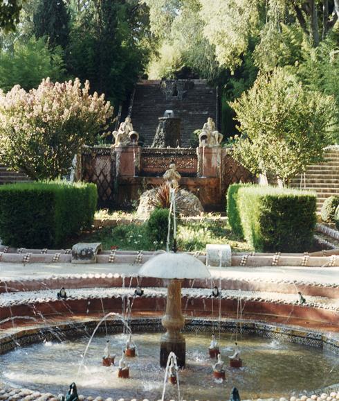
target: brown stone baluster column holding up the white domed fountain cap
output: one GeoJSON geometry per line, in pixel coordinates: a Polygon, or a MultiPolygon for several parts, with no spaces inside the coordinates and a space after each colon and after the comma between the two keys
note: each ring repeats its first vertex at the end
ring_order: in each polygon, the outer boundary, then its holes
{"type": "Polygon", "coordinates": [[[162,319],[163,327],[167,330],[161,336],[160,366],[166,367],[168,355],[174,352],[179,368],[185,367],[186,343],[181,329],[185,318],[181,313],[181,280],[172,279],[167,286],[166,314],[162,319]]]}

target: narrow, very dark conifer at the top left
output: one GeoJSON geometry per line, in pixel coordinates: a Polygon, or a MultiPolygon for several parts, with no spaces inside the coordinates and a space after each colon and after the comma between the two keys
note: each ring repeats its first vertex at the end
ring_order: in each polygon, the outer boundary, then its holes
{"type": "Polygon", "coordinates": [[[70,17],[63,0],[40,0],[33,22],[35,37],[48,37],[51,49],[55,46],[66,48],[70,17]]]}

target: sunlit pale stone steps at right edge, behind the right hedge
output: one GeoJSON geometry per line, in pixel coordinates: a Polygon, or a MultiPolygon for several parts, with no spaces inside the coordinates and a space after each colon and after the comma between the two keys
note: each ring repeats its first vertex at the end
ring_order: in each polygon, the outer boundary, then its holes
{"type": "Polygon", "coordinates": [[[315,191],[318,212],[326,198],[339,196],[339,146],[326,148],[324,162],[307,167],[305,177],[293,178],[291,187],[315,191]]]}

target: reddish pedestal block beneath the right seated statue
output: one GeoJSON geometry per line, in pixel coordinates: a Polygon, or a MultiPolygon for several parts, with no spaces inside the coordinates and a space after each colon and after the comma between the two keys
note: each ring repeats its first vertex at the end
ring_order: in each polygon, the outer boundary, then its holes
{"type": "Polygon", "coordinates": [[[197,148],[199,177],[221,177],[221,146],[197,148]]]}

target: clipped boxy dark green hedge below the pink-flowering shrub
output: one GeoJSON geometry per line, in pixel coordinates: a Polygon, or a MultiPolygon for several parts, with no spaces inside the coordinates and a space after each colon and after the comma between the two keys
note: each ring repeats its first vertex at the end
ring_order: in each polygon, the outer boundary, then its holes
{"type": "Polygon", "coordinates": [[[0,238],[3,244],[50,248],[89,228],[97,203],[94,184],[64,181],[0,186],[0,238]]]}

